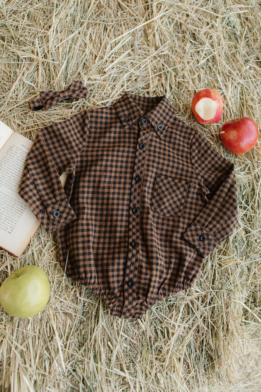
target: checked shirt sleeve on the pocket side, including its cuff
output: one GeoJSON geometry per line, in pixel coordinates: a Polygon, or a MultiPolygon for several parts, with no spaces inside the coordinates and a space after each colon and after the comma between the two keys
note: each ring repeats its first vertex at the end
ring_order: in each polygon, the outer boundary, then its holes
{"type": "Polygon", "coordinates": [[[238,225],[234,165],[218,154],[200,132],[191,143],[191,163],[208,200],[183,238],[204,258],[238,225]]]}

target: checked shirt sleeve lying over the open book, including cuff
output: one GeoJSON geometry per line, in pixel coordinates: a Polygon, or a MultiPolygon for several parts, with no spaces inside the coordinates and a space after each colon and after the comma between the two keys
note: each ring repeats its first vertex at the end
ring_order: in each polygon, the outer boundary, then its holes
{"type": "Polygon", "coordinates": [[[40,129],[27,155],[18,192],[48,233],[76,219],[69,200],[88,131],[88,111],[83,111],[40,129]],[[59,178],[64,171],[69,174],[65,189],[59,178]]]}

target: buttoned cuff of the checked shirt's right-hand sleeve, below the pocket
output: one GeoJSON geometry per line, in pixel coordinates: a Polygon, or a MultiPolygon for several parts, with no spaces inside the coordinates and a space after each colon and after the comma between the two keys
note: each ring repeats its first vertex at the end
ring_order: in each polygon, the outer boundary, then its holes
{"type": "Polygon", "coordinates": [[[191,225],[183,234],[183,238],[189,245],[196,249],[203,258],[206,258],[212,250],[218,246],[213,234],[207,232],[207,230],[200,225],[191,225]]]}

